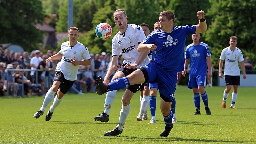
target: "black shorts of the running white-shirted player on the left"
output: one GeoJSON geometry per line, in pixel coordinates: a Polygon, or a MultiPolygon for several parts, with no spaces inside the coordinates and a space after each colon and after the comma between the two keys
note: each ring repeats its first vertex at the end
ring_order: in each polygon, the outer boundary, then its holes
{"type": "Polygon", "coordinates": [[[69,89],[73,86],[75,81],[70,81],[64,78],[64,74],[60,71],[55,71],[53,81],[60,81],[60,92],[66,94],[69,89]]]}

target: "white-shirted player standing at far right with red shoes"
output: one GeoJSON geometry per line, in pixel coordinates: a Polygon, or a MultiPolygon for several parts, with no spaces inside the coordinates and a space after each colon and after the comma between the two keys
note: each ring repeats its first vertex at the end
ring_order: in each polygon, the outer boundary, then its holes
{"type": "Polygon", "coordinates": [[[246,75],[245,75],[243,53],[239,48],[236,47],[237,37],[231,36],[229,44],[230,46],[224,48],[220,55],[219,77],[223,78],[221,69],[223,66],[223,61],[225,60],[224,75],[225,75],[226,89],[224,90],[224,93],[223,93],[222,107],[226,108],[226,101],[229,95],[229,91],[231,90],[231,87],[233,85],[232,102],[231,102],[230,108],[235,109],[237,89],[238,89],[238,86],[240,85],[240,69],[238,66],[238,62],[240,62],[244,79],[246,79],[246,75]]]}

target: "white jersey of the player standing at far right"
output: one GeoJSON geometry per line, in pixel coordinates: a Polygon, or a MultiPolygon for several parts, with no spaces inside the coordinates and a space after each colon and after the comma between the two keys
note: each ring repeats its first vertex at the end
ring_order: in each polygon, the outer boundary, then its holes
{"type": "Polygon", "coordinates": [[[239,48],[236,47],[234,51],[230,50],[230,47],[224,48],[220,60],[225,60],[224,75],[240,76],[238,62],[244,61],[244,58],[239,48]]]}

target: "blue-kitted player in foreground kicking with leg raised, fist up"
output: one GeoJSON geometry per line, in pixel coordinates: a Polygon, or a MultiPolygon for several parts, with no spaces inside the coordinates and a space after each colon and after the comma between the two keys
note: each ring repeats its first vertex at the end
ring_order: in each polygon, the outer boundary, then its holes
{"type": "MultiPolygon", "coordinates": [[[[104,85],[101,76],[96,80],[97,93],[104,94],[107,91],[122,89],[129,84],[139,84],[144,82],[157,82],[161,97],[161,112],[165,121],[165,129],[159,136],[167,137],[173,128],[171,104],[177,84],[177,73],[184,70],[184,47],[188,35],[202,33],[206,31],[207,25],[204,19],[204,11],[198,11],[199,23],[193,26],[174,27],[175,16],[171,11],[163,11],[159,14],[159,24],[161,30],[152,32],[146,40],[138,46],[138,51],[143,52],[148,49],[156,50],[156,56],[151,63],[135,70],[127,77],[118,78],[108,85],[104,85]]],[[[132,97],[122,100],[123,104],[130,102],[132,97]]],[[[127,117],[127,115],[125,115],[127,117]]],[[[123,118],[126,120],[126,118],[123,118]]],[[[109,136],[116,136],[123,130],[123,123],[111,131],[109,136]]]]}

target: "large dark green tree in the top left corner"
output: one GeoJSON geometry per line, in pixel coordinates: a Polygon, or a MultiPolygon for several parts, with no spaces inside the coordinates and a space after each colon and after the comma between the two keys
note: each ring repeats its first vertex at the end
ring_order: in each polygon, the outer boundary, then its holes
{"type": "Polygon", "coordinates": [[[27,51],[38,49],[43,32],[35,25],[45,17],[41,1],[1,0],[0,11],[0,43],[19,44],[27,51]]]}

